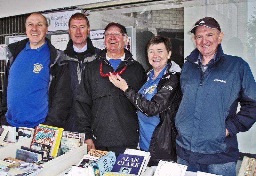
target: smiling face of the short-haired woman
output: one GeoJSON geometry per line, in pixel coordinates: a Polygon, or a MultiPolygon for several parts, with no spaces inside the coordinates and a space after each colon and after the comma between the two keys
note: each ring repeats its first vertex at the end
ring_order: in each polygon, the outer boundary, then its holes
{"type": "Polygon", "coordinates": [[[151,44],[148,47],[148,61],[154,71],[161,71],[167,64],[172,52],[167,52],[164,43],[151,44]]]}

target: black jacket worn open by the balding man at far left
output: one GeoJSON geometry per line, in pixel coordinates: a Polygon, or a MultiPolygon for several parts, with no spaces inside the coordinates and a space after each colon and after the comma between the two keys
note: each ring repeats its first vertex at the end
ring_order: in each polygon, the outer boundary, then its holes
{"type": "MultiPolygon", "coordinates": [[[[71,106],[71,89],[70,79],[68,77],[68,66],[67,62],[63,60],[64,52],[57,50],[51,44],[48,38],[45,38],[47,45],[50,50],[50,78],[48,86],[48,105],[49,110],[43,124],[52,125],[56,127],[63,127],[69,108],[71,106]]],[[[4,88],[2,94],[2,103],[0,106],[1,115],[4,116],[8,105],[6,102],[6,91],[8,86],[8,74],[12,63],[16,59],[17,55],[26,47],[28,38],[19,42],[9,44],[6,48],[9,58],[6,65],[4,74],[4,88]]]]}

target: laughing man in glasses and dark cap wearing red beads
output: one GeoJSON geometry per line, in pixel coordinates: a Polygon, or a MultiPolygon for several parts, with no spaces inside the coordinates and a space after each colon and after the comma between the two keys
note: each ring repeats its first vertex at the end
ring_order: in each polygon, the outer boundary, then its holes
{"type": "Polygon", "coordinates": [[[124,49],[127,32],[118,23],[105,28],[105,45],[100,56],[87,65],[76,96],[76,125],[85,133],[87,149],[115,152],[137,148],[136,109],[108,79],[109,72],[122,75],[129,87],[138,91],[146,80],[142,65],[124,49]]]}

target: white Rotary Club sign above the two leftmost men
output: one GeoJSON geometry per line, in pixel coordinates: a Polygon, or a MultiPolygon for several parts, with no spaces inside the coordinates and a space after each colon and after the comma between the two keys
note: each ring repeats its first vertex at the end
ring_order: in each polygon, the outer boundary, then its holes
{"type": "Polygon", "coordinates": [[[83,9],[71,9],[57,12],[42,13],[48,21],[48,32],[68,30],[68,20],[76,12],[83,13],[83,9]]]}

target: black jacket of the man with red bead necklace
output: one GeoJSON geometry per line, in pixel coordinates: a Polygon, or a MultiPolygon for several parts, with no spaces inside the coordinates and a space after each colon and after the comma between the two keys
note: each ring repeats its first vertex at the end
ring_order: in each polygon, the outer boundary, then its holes
{"type": "MultiPolygon", "coordinates": [[[[114,72],[106,59],[106,49],[96,60],[88,63],[76,96],[78,131],[85,133],[85,140],[92,138],[96,147],[137,146],[139,125],[136,108],[108,77],[100,75],[101,62],[103,74],[114,72]]],[[[127,50],[116,72],[124,66],[127,68],[121,76],[130,87],[138,91],[146,80],[144,68],[127,50]]]]}

